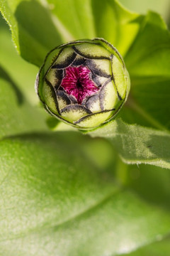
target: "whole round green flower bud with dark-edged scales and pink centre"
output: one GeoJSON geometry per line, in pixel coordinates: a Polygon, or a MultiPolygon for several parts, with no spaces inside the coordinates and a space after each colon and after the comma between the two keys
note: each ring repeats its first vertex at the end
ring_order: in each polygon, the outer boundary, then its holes
{"type": "Polygon", "coordinates": [[[51,50],[35,87],[50,114],[79,129],[92,129],[118,114],[130,78],[118,50],[95,38],[51,50]]]}

